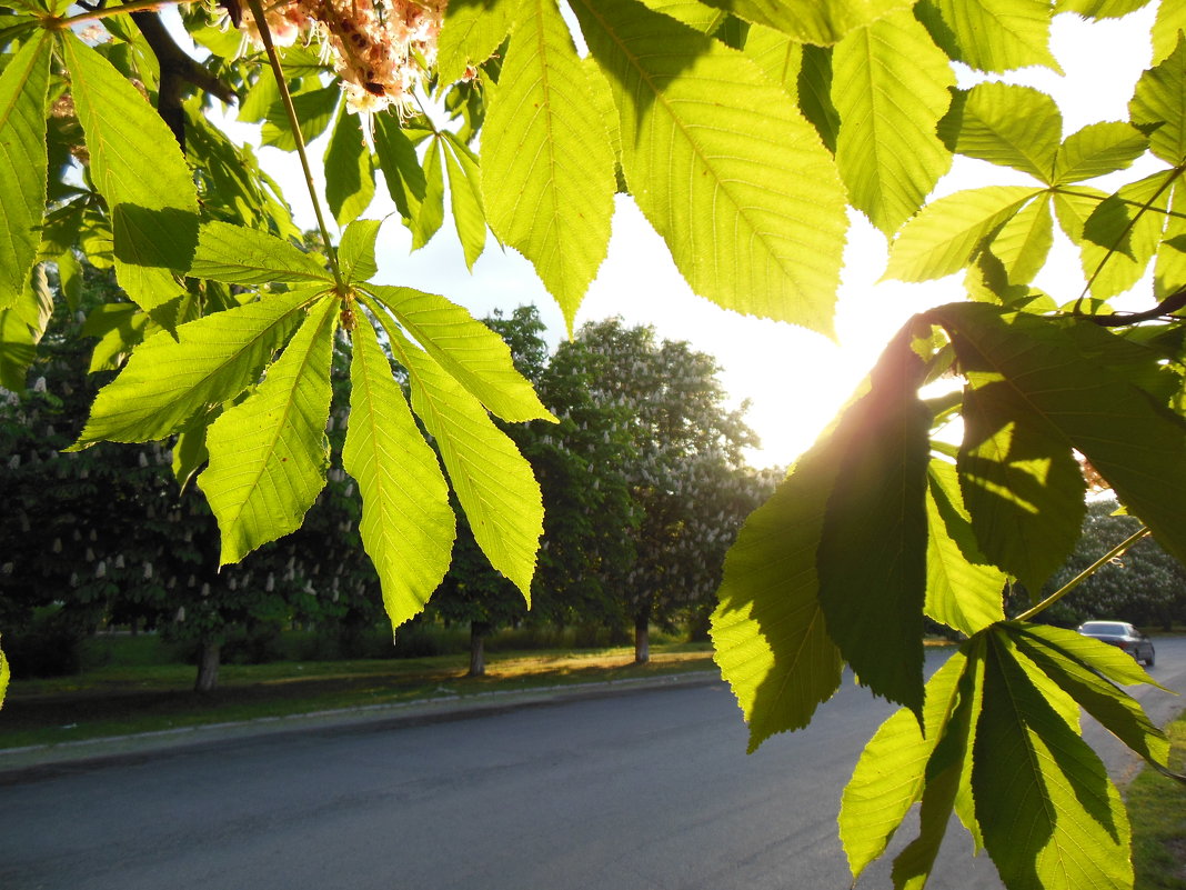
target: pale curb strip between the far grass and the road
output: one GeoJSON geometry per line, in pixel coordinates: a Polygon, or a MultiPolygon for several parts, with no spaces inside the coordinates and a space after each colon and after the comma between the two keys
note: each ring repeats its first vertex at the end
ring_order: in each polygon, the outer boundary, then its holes
{"type": "Polygon", "coordinates": [[[713,670],[693,670],[663,676],[599,680],[587,684],[536,686],[525,689],[492,689],[467,695],[451,693],[384,705],[313,711],[250,720],[180,726],[129,736],[26,745],[0,750],[0,786],[45,778],[63,773],[97,769],[126,763],[142,763],[195,749],[232,742],[250,742],[281,735],[304,735],[342,730],[382,731],[408,725],[461,720],[505,713],[523,707],[605,698],[619,693],[668,687],[720,684],[713,670]]]}

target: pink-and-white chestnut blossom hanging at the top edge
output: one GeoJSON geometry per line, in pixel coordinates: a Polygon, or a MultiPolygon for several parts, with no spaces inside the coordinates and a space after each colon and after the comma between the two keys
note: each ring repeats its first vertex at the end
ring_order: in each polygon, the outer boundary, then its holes
{"type": "MultiPolygon", "coordinates": [[[[436,61],[436,36],[448,0],[279,0],[264,8],[278,46],[320,43],[342,78],[351,112],[412,110],[412,93],[436,61]]],[[[243,31],[257,45],[250,14],[243,31]]]]}

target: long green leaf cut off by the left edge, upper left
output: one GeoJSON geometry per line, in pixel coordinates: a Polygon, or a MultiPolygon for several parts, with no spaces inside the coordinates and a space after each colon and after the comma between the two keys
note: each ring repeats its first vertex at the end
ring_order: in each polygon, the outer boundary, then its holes
{"type": "Polygon", "coordinates": [[[20,298],[42,243],[45,101],[53,39],[31,39],[0,72],[0,310],[20,298]]]}

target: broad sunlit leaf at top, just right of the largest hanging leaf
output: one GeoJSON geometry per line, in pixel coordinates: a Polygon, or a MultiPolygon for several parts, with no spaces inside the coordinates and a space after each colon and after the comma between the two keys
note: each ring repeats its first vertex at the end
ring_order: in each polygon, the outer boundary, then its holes
{"type": "Polygon", "coordinates": [[[955,82],[948,57],[908,11],[853,31],[833,51],[836,164],[853,205],[886,235],[951,166],[935,127],[955,82]]]}

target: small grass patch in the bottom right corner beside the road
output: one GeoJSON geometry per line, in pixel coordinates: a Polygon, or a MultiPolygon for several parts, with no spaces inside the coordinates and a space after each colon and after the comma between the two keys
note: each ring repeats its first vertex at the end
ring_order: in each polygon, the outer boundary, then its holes
{"type": "MultiPolygon", "coordinates": [[[[1186,712],[1166,727],[1169,768],[1186,770],[1186,712]]],[[[1146,768],[1128,787],[1136,890],[1186,890],[1186,786],[1146,768]]]]}

